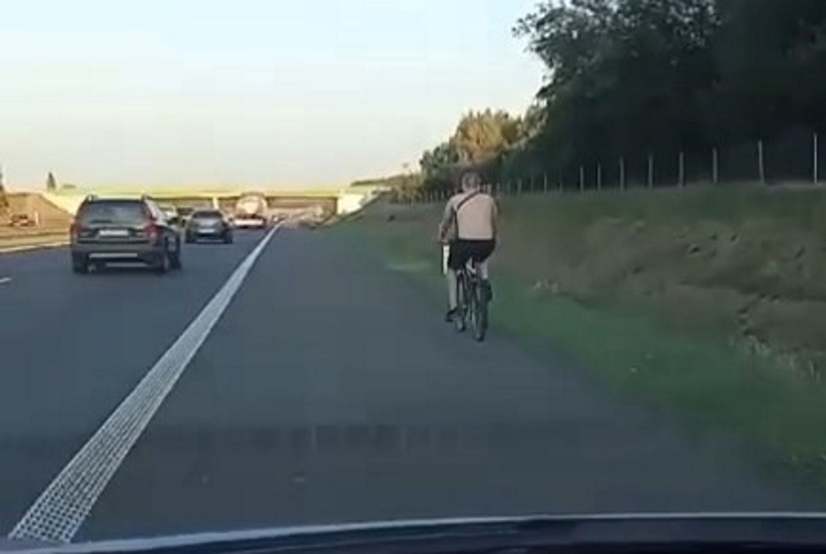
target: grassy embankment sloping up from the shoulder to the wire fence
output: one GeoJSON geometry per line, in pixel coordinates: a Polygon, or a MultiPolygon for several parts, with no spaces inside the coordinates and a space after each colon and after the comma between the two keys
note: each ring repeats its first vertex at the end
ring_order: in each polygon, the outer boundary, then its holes
{"type": "MultiPolygon", "coordinates": [[[[494,326],[826,486],[824,208],[823,190],[505,198],[494,326]]],[[[339,229],[438,307],[440,210],[377,203],[339,229]]]]}

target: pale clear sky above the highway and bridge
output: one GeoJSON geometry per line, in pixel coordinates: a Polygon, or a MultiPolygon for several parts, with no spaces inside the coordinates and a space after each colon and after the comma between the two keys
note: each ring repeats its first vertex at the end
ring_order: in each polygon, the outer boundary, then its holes
{"type": "Polygon", "coordinates": [[[26,0],[0,12],[8,187],[346,184],[525,109],[535,0],[26,0]]]}

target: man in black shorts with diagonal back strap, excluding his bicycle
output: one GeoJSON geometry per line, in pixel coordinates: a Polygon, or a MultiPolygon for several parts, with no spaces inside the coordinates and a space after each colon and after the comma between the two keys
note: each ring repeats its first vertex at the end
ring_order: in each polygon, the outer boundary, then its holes
{"type": "Polygon", "coordinates": [[[439,223],[439,242],[449,245],[448,313],[445,317],[448,322],[458,313],[456,270],[468,260],[478,264],[482,291],[488,300],[493,298],[487,259],[496,247],[496,201],[482,191],[482,175],[477,171],[467,171],[462,175],[461,183],[462,191],[448,200],[439,223]]]}

